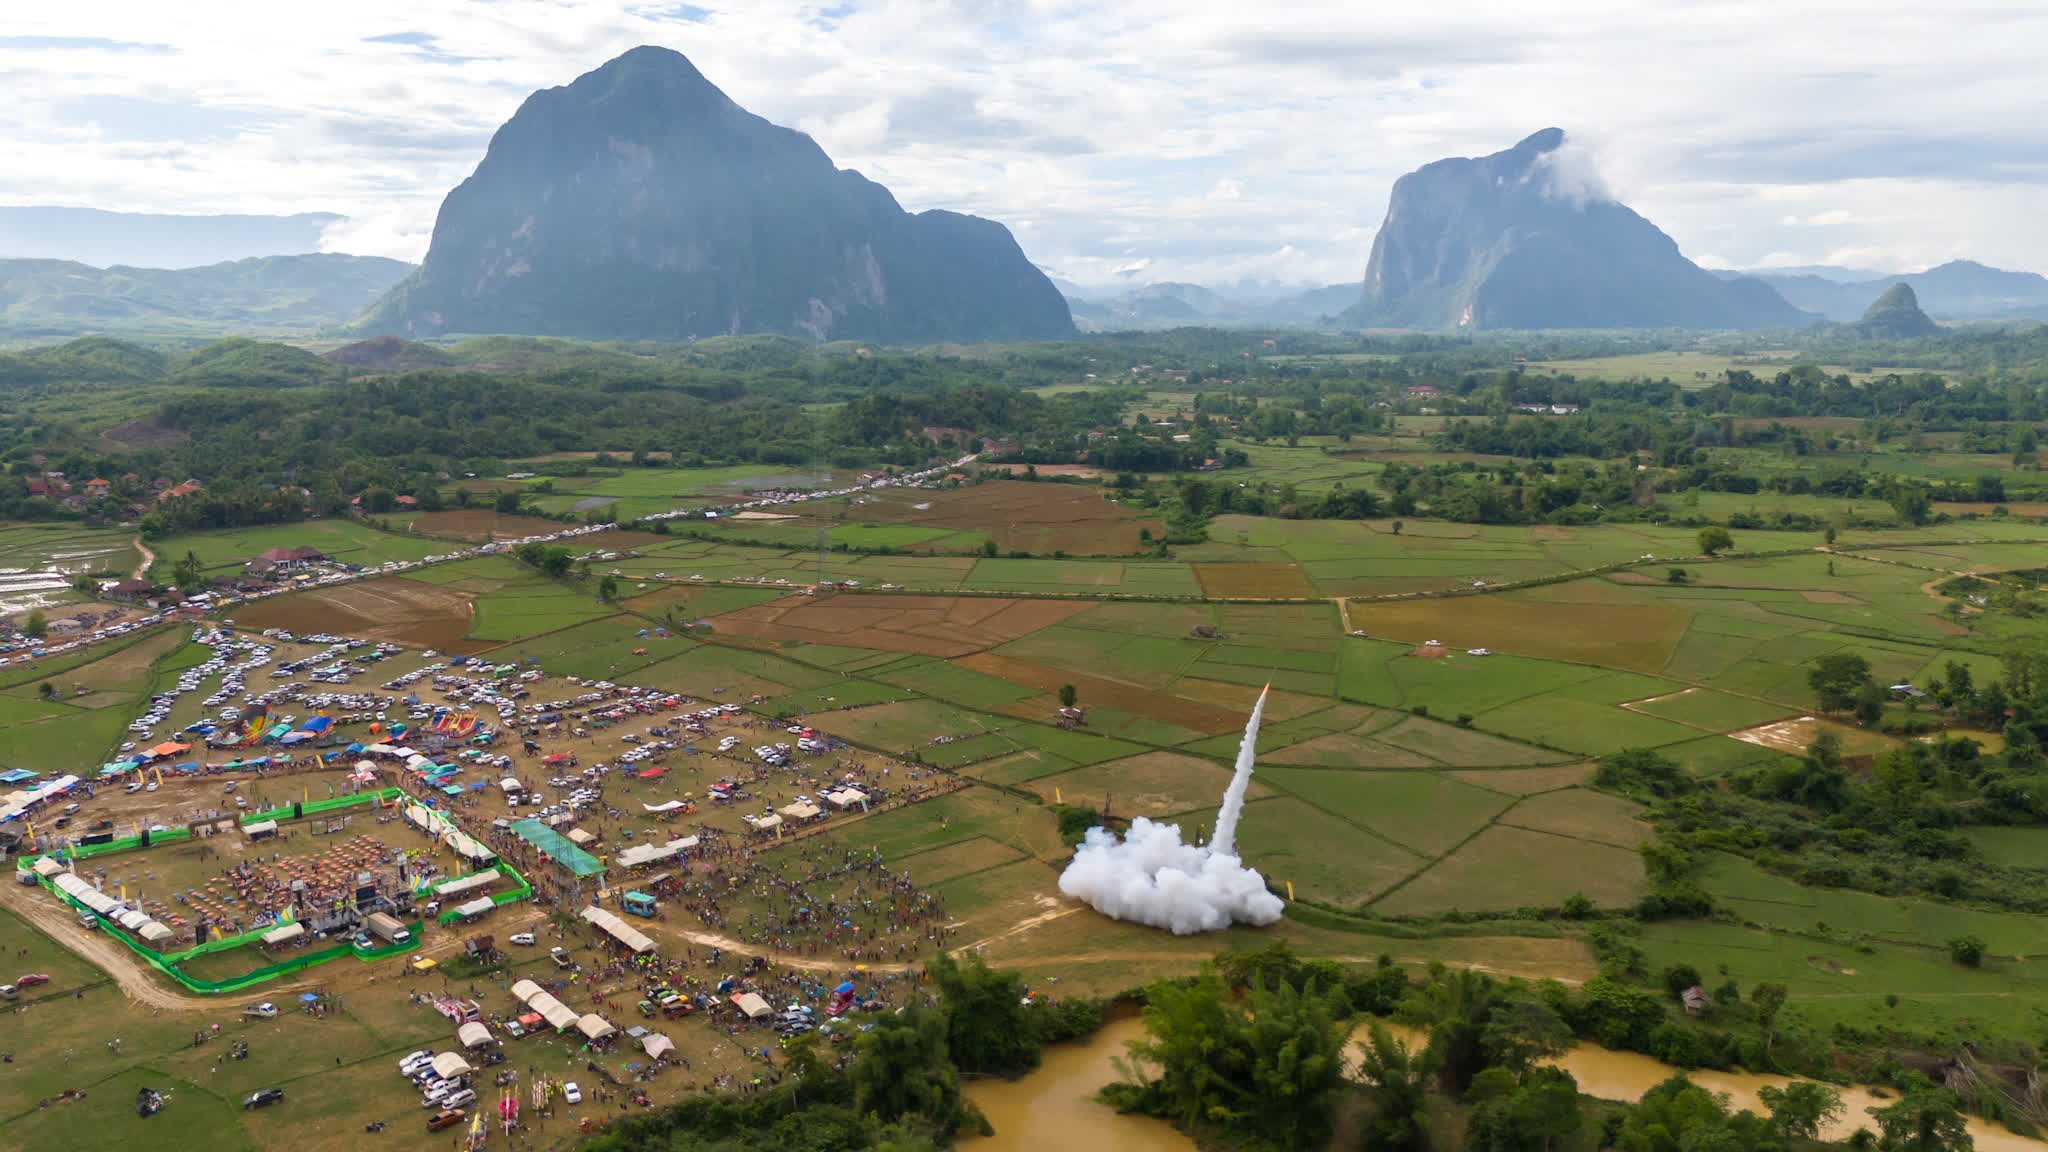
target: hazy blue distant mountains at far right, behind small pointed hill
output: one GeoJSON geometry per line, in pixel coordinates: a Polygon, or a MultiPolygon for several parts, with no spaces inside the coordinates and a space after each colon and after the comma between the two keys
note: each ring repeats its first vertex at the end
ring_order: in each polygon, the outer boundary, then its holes
{"type": "Polygon", "coordinates": [[[1950,260],[1925,273],[1880,275],[1851,269],[1767,269],[1714,273],[1755,277],[1794,307],[1851,324],[1892,285],[1913,285],[1919,307],[1942,320],[2048,320],[2048,277],[2007,273],[1974,260],[1950,260]]]}

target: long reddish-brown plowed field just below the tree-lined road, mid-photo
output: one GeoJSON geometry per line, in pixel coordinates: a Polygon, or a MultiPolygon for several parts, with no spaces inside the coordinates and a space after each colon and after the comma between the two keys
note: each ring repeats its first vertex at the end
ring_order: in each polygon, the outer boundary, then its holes
{"type": "Polygon", "coordinates": [[[1055,625],[1092,601],[1006,596],[782,596],[711,617],[725,635],[803,640],[918,656],[965,656],[1055,625]]]}

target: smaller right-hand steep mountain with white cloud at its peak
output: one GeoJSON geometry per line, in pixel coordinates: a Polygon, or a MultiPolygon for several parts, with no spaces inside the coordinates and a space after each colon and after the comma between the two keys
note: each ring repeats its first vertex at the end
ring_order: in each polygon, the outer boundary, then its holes
{"type": "Polygon", "coordinates": [[[1561,129],[1395,182],[1346,316],[1395,328],[1778,328],[1815,318],[1722,281],[1579,172],[1561,129]]]}

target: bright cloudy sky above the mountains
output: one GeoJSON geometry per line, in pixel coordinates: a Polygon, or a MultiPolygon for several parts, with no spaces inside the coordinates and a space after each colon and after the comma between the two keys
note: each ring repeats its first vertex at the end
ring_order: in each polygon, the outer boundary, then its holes
{"type": "Polygon", "coordinates": [[[6,8],[0,203],[336,211],[336,252],[418,260],[528,92],[657,43],[1087,287],[1356,281],[1395,178],[1548,125],[1706,266],[2048,273],[2040,0],[6,8]]]}

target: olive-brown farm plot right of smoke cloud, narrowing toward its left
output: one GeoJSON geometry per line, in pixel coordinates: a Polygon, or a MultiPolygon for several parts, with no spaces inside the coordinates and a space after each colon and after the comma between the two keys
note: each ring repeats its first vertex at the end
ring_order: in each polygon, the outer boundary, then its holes
{"type": "Polygon", "coordinates": [[[1632,849],[1495,824],[1372,904],[1393,916],[1556,908],[1575,892],[1630,906],[1649,883],[1632,849]]]}

